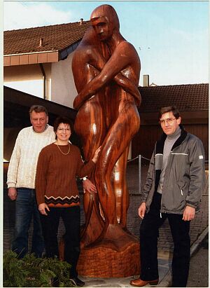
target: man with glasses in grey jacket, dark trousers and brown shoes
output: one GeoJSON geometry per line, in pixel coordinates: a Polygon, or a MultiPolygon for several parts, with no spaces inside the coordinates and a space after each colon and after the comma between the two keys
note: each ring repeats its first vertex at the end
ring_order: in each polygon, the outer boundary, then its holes
{"type": "Polygon", "coordinates": [[[204,188],[204,147],[186,132],[176,107],[160,109],[163,130],[155,144],[146,184],[141,192],[139,217],[141,275],[130,284],[158,284],[158,233],[166,218],[174,240],[172,287],[186,287],[190,265],[190,220],[199,209],[204,188]]]}

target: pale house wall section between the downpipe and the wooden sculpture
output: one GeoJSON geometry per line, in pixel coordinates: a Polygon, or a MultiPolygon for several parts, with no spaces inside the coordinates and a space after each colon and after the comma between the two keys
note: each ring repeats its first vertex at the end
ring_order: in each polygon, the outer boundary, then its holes
{"type": "Polygon", "coordinates": [[[51,101],[73,108],[73,100],[77,95],[71,70],[73,53],[66,60],[52,63],[51,101]]]}

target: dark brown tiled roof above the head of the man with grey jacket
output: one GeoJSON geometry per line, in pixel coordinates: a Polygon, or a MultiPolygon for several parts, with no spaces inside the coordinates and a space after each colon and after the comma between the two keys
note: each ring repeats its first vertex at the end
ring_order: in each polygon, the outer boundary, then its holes
{"type": "Polygon", "coordinates": [[[179,111],[209,109],[209,84],[139,87],[141,113],[157,112],[160,107],[175,105],[179,111]]]}

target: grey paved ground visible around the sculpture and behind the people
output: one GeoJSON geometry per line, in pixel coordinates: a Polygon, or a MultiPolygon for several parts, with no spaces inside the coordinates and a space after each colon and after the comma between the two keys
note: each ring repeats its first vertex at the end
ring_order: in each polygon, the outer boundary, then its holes
{"type": "MultiPolygon", "coordinates": [[[[148,166],[142,166],[141,170],[141,188],[143,188],[146,174],[148,171],[148,166]]],[[[139,237],[139,228],[141,224],[141,219],[138,216],[138,208],[140,203],[139,196],[139,180],[138,180],[139,167],[138,165],[129,165],[127,169],[127,184],[130,191],[133,193],[130,194],[130,207],[127,212],[127,228],[130,232],[134,233],[139,237]]],[[[208,186],[208,178],[209,174],[207,174],[207,185],[205,186],[205,190],[203,191],[204,196],[202,196],[202,201],[200,205],[200,212],[195,215],[195,219],[191,221],[190,224],[190,238],[191,245],[193,242],[197,240],[197,238],[202,234],[205,228],[209,225],[209,186],[208,186]]],[[[80,186],[80,198],[81,203],[83,203],[83,189],[80,186]]],[[[7,189],[3,190],[3,252],[10,249],[11,241],[13,239],[13,230],[15,223],[15,205],[14,202],[10,201],[7,196],[7,189]]],[[[81,205],[81,224],[85,222],[85,214],[83,211],[83,205],[81,205]]],[[[32,238],[32,227],[29,229],[29,248],[31,247],[31,238],[32,238]]],[[[64,224],[62,220],[59,222],[59,231],[58,231],[58,239],[62,237],[64,234],[64,224]]],[[[158,240],[158,259],[161,259],[161,267],[167,267],[163,269],[160,268],[161,279],[158,284],[158,287],[167,287],[165,285],[169,284],[169,275],[167,274],[169,271],[169,259],[172,257],[172,252],[174,249],[172,235],[169,228],[169,223],[166,220],[165,224],[160,228],[160,238],[158,240]],[[162,262],[165,261],[165,262],[162,262]]],[[[130,280],[134,279],[134,277],[128,278],[111,278],[111,282],[108,279],[97,279],[91,280],[90,285],[88,284],[89,280],[86,281],[85,286],[90,287],[131,287],[130,280]],[[95,286],[97,285],[97,286],[95,286]]],[[[149,285],[147,285],[149,286],[149,285]]]]}

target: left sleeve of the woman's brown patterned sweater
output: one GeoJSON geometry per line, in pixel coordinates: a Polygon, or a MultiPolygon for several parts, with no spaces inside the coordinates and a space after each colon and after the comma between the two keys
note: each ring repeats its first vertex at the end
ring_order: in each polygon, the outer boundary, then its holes
{"type": "Polygon", "coordinates": [[[36,167],[36,200],[37,204],[45,203],[45,191],[47,186],[48,165],[50,156],[45,149],[42,149],[38,156],[38,163],[36,167]]]}

